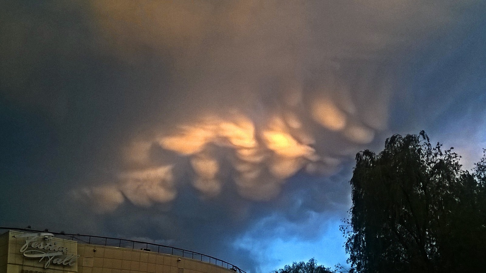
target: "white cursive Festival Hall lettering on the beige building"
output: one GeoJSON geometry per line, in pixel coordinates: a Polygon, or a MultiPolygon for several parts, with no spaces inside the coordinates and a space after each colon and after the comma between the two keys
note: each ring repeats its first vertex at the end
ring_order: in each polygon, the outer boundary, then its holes
{"type": "Polygon", "coordinates": [[[79,257],[79,255],[68,254],[67,247],[51,242],[53,235],[50,233],[18,234],[14,235],[14,237],[25,237],[25,244],[20,248],[20,252],[29,258],[40,258],[39,262],[45,261],[44,268],[47,268],[51,262],[58,265],[72,266],[79,257]],[[29,247],[33,249],[27,250],[29,247]]]}

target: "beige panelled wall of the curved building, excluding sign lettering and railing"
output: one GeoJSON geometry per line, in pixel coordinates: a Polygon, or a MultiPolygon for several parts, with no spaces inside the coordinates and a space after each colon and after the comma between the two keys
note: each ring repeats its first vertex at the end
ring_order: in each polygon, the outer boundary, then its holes
{"type": "MultiPolygon", "coordinates": [[[[69,265],[50,263],[46,258],[26,257],[20,252],[26,238],[24,234],[9,231],[0,236],[0,273],[229,273],[233,272],[207,262],[175,255],[165,255],[122,247],[78,244],[76,241],[52,238],[52,242],[68,248],[68,255],[79,255],[69,265]]],[[[36,250],[29,247],[29,250],[36,250]]],[[[44,251],[49,252],[49,251],[44,251]]],[[[32,252],[31,252],[32,253],[32,252]]],[[[35,252],[34,252],[35,253],[35,252]]]]}

